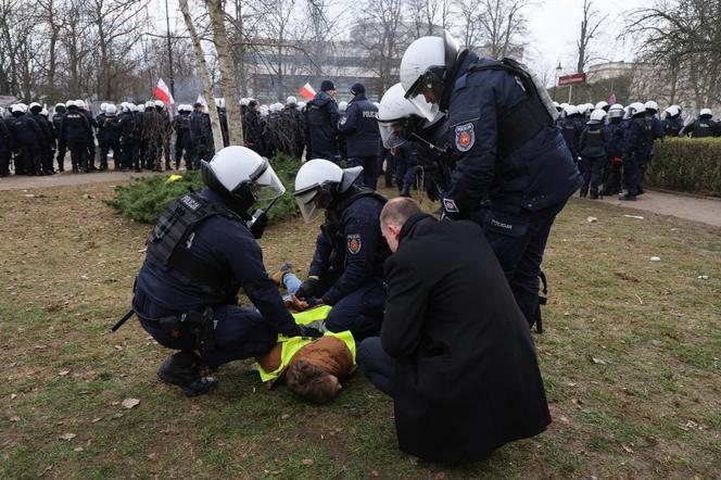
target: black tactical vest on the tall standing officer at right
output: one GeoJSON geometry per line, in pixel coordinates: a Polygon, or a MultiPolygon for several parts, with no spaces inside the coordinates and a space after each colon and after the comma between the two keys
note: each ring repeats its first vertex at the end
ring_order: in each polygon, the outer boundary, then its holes
{"type": "Polygon", "coordinates": [[[498,118],[498,151],[508,156],[542,128],[553,126],[555,118],[543,104],[533,78],[520,63],[513,59],[503,59],[484,65],[473,65],[467,73],[488,70],[503,71],[518,78],[526,93],[524,100],[498,118]]]}

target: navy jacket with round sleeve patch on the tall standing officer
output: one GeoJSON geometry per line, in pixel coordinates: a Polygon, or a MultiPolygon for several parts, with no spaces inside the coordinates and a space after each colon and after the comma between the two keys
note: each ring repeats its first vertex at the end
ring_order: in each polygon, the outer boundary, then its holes
{"type": "Polygon", "coordinates": [[[542,127],[508,155],[499,151],[499,119],[526,100],[526,93],[505,71],[466,72],[486,62],[492,61],[470,53],[451,93],[448,127],[454,131],[456,167],[443,199],[446,212],[466,216],[486,201],[492,210],[507,213],[565,202],[582,178],[554,125],[542,127]]]}

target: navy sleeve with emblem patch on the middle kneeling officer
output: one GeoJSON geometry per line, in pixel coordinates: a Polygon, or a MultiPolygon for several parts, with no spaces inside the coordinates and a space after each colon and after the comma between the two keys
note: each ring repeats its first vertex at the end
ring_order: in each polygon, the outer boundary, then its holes
{"type": "Polygon", "coordinates": [[[380,241],[378,212],[352,205],[343,213],[345,268],[322,300],[334,305],[339,300],[372,279],[376,252],[380,241]]]}

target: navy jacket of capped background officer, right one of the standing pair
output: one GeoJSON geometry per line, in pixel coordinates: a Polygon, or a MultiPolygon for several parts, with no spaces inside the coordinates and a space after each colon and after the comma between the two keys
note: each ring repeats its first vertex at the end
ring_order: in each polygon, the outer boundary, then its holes
{"type": "Polygon", "coordinates": [[[349,102],[345,116],[338,123],[338,131],[345,137],[349,157],[376,156],[380,141],[378,108],[365,94],[356,94],[349,102]]]}

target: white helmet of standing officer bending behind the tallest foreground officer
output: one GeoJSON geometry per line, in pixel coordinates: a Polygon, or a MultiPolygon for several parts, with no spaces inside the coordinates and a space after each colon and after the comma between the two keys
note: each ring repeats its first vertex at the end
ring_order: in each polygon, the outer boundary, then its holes
{"type": "MultiPolygon", "coordinates": [[[[418,99],[418,101],[423,100],[418,99]]],[[[416,105],[405,98],[403,85],[395,84],[383,93],[378,108],[378,128],[383,147],[392,149],[407,140],[403,130],[410,118],[418,118],[418,123],[426,119],[416,105]]],[[[410,129],[415,126],[417,125],[410,129]]]]}

